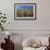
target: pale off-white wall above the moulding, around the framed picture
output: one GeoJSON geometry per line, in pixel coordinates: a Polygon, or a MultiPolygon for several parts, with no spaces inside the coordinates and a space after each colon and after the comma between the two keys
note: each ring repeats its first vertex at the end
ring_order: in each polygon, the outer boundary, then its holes
{"type": "Polygon", "coordinates": [[[50,0],[0,0],[7,14],[7,29],[50,29],[50,0]],[[14,3],[36,3],[36,20],[14,20],[14,3]]]}

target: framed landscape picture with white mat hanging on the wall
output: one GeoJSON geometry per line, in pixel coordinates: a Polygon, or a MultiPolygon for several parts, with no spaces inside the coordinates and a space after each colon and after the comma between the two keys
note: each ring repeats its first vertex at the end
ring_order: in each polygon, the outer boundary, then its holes
{"type": "Polygon", "coordinates": [[[35,3],[14,3],[14,18],[35,18],[35,3]]]}

